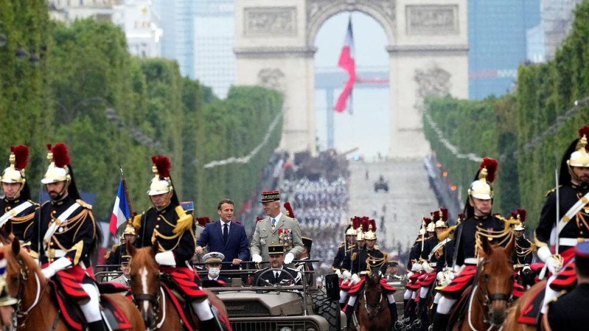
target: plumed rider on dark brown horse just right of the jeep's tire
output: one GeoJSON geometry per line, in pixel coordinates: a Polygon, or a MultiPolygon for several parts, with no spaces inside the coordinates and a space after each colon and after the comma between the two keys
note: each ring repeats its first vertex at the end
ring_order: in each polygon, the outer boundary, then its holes
{"type": "Polygon", "coordinates": [[[366,280],[366,275],[369,274],[373,269],[377,270],[376,272],[378,272],[378,274],[382,276],[382,278],[380,279],[380,286],[382,287],[383,292],[386,294],[389,313],[391,314],[391,323],[394,324],[398,320],[397,306],[395,303],[395,297],[393,297],[393,293],[396,289],[395,287],[392,287],[391,285],[386,283],[386,279],[385,277],[383,277],[383,274],[380,271],[380,267],[386,262],[387,256],[386,254],[382,253],[382,251],[380,251],[376,246],[375,230],[375,220],[370,220],[368,231],[364,233],[364,239],[366,240],[366,248],[364,250],[360,250],[358,253],[356,253],[355,256],[352,256],[352,260],[359,260],[359,264],[357,264],[359,265],[359,269],[353,269],[352,271],[357,271],[362,276],[358,277],[358,273],[354,273],[352,275],[352,279],[354,280],[355,284],[352,286],[352,289],[350,289],[348,292],[350,299],[348,300],[348,305],[345,307],[348,325],[350,325],[350,320],[352,319],[352,314],[354,312],[358,296],[360,293],[362,293],[364,282],[366,280]]]}

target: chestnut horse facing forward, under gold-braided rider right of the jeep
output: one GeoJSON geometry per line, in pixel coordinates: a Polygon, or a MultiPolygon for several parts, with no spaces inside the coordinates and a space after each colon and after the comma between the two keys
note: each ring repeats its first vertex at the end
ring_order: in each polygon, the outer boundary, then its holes
{"type": "Polygon", "coordinates": [[[501,247],[482,240],[478,279],[475,278],[471,297],[464,318],[452,330],[499,330],[507,316],[507,308],[513,287],[514,267],[511,255],[515,248],[513,237],[507,246],[501,247]]]}

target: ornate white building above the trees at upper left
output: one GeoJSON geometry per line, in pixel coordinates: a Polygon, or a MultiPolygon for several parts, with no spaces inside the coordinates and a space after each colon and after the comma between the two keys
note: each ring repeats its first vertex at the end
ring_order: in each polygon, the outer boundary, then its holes
{"type": "Polygon", "coordinates": [[[127,0],[114,6],[112,22],[127,36],[129,52],[141,58],[160,57],[162,29],[151,0],[127,0]]]}

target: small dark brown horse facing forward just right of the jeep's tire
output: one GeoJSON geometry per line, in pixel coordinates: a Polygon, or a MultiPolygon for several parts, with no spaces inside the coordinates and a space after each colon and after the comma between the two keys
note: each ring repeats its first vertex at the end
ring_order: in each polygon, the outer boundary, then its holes
{"type": "Polygon", "coordinates": [[[360,331],[389,331],[392,328],[391,314],[386,294],[380,287],[380,275],[366,275],[362,297],[358,307],[360,331]]]}

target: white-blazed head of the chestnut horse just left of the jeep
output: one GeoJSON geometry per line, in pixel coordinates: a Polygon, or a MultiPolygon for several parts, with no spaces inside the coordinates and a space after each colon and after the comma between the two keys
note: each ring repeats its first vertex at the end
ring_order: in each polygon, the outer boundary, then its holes
{"type": "Polygon", "coordinates": [[[160,269],[155,262],[157,241],[151,247],[135,249],[127,243],[131,255],[131,294],[145,326],[154,327],[160,300],[160,269]]]}

